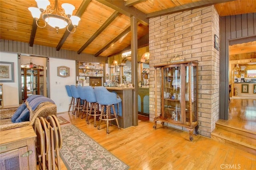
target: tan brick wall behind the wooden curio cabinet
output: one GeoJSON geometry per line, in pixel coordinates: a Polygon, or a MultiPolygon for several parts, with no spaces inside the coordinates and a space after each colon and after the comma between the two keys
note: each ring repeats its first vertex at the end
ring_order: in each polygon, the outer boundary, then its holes
{"type": "MultiPolygon", "coordinates": [[[[150,18],[150,121],[154,120],[156,108],[154,65],[170,63],[170,59],[179,54],[189,61],[198,60],[199,131],[210,137],[219,117],[220,63],[219,51],[214,48],[214,34],[219,37],[219,15],[214,6],[150,18]]],[[[157,100],[160,115],[160,86],[157,100]]]]}

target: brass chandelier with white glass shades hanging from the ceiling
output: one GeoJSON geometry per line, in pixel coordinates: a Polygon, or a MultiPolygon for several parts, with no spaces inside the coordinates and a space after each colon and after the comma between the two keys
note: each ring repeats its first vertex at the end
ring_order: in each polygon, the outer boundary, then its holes
{"type": "Polygon", "coordinates": [[[46,27],[46,23],[56,29],[57,34],[58,30],[70,26],[72,24],[74,26],[74,31],[68,30],[70,33],[74,33],[76,31],[76,26],[78,26],[78,22],[80,18],[78,16],[72,16],[73,10],[75,7],[72,4],[64,3],[62,4],[62,8],[60,9],[58,6],[58,0],[55,0],[54,8],[50,5],[49,0],[35,0],[38,8],[29,7],[33,18],[36,20],[36,25],[40,28],[46,27]],[[56,12],[54,12],[56,11],[56,12]],[[44,21],[44,26],[38,25],[38,20],[40,19],[44,21]]]}

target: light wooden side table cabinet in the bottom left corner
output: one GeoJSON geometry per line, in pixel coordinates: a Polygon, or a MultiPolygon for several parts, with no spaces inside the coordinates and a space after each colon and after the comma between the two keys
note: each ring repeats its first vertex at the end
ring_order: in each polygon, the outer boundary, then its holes
{"type": "Polygon", "coordinates": [[[0,169],[36,169],[36,133],[32,126],[0,131],[0,169]]]}

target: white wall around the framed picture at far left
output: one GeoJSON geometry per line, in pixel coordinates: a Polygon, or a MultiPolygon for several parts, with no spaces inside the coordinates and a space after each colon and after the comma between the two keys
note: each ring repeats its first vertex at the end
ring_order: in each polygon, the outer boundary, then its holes
{"type": "Polygon", "coordinates": [[[3,105],[18,105],[18,55],[16,53],[0,52],[0,61],[14,62],[14,82],[3,84],[3,105]]]}

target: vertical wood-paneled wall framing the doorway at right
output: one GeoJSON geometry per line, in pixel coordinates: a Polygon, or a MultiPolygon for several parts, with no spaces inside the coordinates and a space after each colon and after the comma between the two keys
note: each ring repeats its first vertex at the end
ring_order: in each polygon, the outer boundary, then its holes
{"type": "Polygon", "coordinates": [[[228,46],[255,36],[256,13],[220,17],[220,119],[228,119],[228,46]]]}

